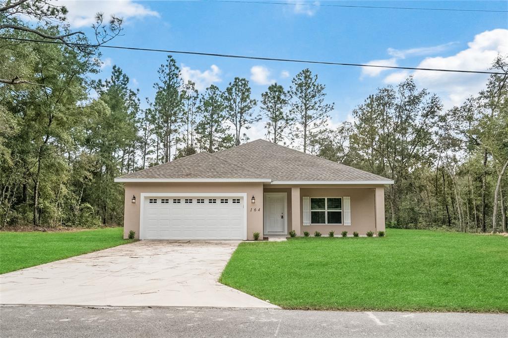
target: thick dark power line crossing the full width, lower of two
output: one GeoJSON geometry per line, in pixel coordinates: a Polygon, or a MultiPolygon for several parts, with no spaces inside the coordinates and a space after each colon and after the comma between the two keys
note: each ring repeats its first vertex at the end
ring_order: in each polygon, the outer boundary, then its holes
{"type": "Polygon", "coordinates": [[[154,48],[141,48],[141,47],[124,47],[124,46],[106,46],[106,45],[91,45],[79,44],[72,42],[61,42],[53,40],[35,40],[35,39],[20,39],[0,37],[3,40],[13,40],[22,42],[36,42],[45,44],[67,45],[80,48],[112,48],[124,50],[136,50],[146,52],[162,52],[170,54],[187,54],[187,55],[201,55],[201,56],[216,56],[236,59],[249,59],[249,60],[263,60],[263,61],[280,61],[280,62],[296,62],[296,63],[312,63],[312,64],[327,64],[327,65],[342,65],[342,66],[356,66],[356,67],[374,67],[374,68],[388,68],[388,69],[401,69],[401,70],[414,70],[414,71],[432,71],[432,72],[448,72],[448,73],[469,73],[469,74],[496,74],[508,75],[508,73],[492,72],[492,71],[466,71],[466,70],[453,70],[453,69],[439,69],[439,68],[419,68],[419,67],[402,67],[402,66],[388,66],[379,64],[363,64],[363,63],[346,63],[346,62],[332,62],[332,61],[314,61],[314,60],[301,60],[301,59],[285,59],[275,57],[262,57],[262,56],[246,56],[246,55],[233,55],[233,54],[219,54],[219,53],[206,53],[206,52],[189,52],[169,49],[154,49],[154,48]]]}

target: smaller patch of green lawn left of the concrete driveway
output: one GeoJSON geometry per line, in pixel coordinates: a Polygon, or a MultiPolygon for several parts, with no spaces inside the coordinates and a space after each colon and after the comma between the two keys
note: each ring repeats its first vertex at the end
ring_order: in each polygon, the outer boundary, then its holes
{"type": "Polygon", "coordinates": [[[0,274],[117,245],[123,228],[69,232],[0,232],[0,274]]]}

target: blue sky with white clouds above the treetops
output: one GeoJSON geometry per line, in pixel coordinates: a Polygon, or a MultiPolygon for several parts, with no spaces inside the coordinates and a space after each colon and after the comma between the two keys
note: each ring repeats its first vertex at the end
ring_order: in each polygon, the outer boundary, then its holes
{"type": "MultiPolygon", "coordinates": [[[[243,1],[243,0],[242,0],[243,1]]],[[[245,0],[248,1],[248,0],[245,0]]],[[[485,71],[498,53],[508,55],[508,13],[452,12],[315,5],[426,7],[508,10],[506,1],[312,1],[278,0],[287,5],[213,1],[58,1],[68,10],[73,29],[90,32],[96,12],[124,19],[123,36],[110,45],[248,56],[371,63],[411,67],[485,71]],[[296,4],[296,5],[295,5],[296,4]]],[[[167,54],[102,50],[102,72],[119,66],[139,88],[142,102],[153,98],[157,69],[167,54]]],[[[351,111],[386,85],[413,75],[420,88],[438,94],[444,106],[460,105],[480,91],[488,75],[382,70],[368,67],[316,65],[173,54],[182,78],[203,90],[210,84],[225,89],[235,77],[249,80],[259,99],[277,82],[308,67],[326,85],[327,101],[335,104],[330,126],[351,120],[351,111]]],[[[263,122],[247,131],[264,136],[263,122]]]]}

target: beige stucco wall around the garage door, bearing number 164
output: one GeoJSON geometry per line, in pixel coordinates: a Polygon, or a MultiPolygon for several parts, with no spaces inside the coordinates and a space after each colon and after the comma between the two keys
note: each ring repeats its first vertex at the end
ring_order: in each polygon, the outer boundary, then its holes
{"type": "Polygon", "coordinates": [[[139,238],[139,221],[141,193],[246,193],[247,200],[247,239],[252,239],[253,232],[263,233],[263,212],[258,210],[263,206],[262,183],[125,183],[125,213],[123,219],[123,238],[127,238],[130,230],[136,231],[139,238]],[[131,202],[136,196],[136,203],[131,202]],[[250,198],[254,195],[256,203],[252,204],[250,198]]]}

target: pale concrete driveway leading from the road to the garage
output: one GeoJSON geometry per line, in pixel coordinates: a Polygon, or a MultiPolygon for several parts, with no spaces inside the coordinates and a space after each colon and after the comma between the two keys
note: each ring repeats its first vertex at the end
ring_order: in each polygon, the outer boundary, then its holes
{"type": "Polygon", "coordinates": [[[237,241],[140,241],[0,276],[4,305],[277,308],[217,279],[237,241]]]}

